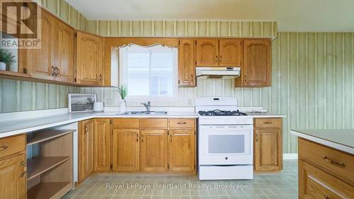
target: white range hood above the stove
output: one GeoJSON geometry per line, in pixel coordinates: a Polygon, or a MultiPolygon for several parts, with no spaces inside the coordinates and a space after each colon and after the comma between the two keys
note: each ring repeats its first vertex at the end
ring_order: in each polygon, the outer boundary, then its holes
{"type": "Polygon", "coordinates": [[[200,79],[236,79],[241,74],[240,67],[197,67],[200,79]]]}

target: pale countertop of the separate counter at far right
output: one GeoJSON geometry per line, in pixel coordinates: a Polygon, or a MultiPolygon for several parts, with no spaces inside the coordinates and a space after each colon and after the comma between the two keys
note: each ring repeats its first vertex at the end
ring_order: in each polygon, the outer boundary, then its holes
{"type": "Polygon", "coordinates": [[[306,140],[354,154],[354,130],[291,130],[306,140]]]}

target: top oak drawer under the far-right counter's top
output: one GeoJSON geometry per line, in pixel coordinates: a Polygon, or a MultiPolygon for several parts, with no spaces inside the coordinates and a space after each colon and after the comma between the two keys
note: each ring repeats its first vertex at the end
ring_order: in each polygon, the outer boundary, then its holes
{"type": "Polygon", "coordinates": [[[354,184],[354,156],[299,138],[299,158],[354,184]]]}

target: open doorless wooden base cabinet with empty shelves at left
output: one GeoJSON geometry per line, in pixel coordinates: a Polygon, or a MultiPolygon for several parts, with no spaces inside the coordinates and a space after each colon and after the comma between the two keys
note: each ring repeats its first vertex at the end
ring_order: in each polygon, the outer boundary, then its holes
{"type": "Polygon", "coordinates": [[[62,198],[72,190],[74,130],[40,130],[27,135],[27,198],[62,198]]]}

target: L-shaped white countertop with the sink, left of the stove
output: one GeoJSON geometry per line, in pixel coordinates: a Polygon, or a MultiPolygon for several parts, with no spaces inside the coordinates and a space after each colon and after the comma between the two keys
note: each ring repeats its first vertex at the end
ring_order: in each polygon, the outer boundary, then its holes
{"type": "Polygon", "coordinates": [[[124,115],[118,112],[65,113],[46,117],[8,120],[0,123],[0,137],[21,134],[48,127],[76,123],[91,118],[198,118],[194,112],[169,112],[167,115],[124,115]]]}

